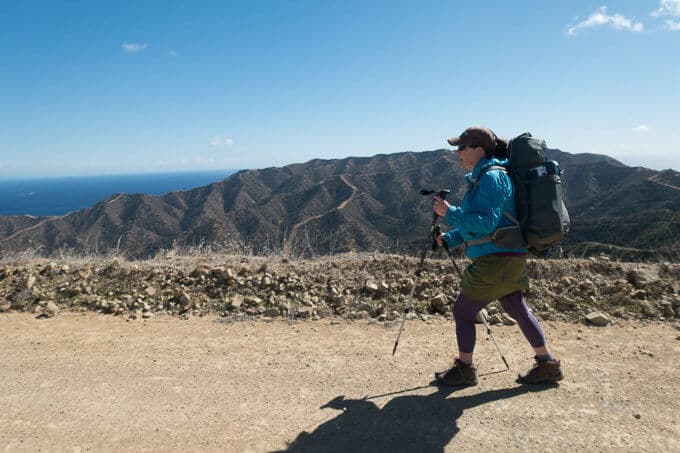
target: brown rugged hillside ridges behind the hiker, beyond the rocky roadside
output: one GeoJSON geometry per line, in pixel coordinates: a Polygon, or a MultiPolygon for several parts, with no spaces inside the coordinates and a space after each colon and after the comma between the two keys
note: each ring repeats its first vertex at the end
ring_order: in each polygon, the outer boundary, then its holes
{"type": "MultiPolygon", "coordinates": [[[[680,259],[680,175],[627,167],[607,156],[551,150],[565,170],[572,256],[680,259]]],[[[318,256],[348,251],[417,251],[431,199],[462,173],[446,150],[315,159],[238,172],[186,192],[116,194],[62,217],[0,217],[0,250],[112,253],[148,258],[177,247],[318,256]]]]}

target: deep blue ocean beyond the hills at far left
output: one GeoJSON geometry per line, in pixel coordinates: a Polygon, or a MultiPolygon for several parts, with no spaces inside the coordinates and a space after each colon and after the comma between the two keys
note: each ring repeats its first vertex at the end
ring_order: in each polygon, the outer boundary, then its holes
{"type": "Polygon", "coordinates": [[[237,170],[0,181],[0,215],[63,215],[115,193],[162,195],[220,181],[237,170]]]}

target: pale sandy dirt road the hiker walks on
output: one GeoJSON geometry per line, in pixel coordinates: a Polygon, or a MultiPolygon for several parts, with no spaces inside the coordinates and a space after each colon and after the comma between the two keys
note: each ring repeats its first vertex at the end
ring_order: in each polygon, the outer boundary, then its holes
{"type": "Polygon", "coordinates": [[[478,328],[477,387],[430,385],[452,322],[0,315],[0,450],[680,451],[680,331],[545,323],[566,378],[478,328]]]}

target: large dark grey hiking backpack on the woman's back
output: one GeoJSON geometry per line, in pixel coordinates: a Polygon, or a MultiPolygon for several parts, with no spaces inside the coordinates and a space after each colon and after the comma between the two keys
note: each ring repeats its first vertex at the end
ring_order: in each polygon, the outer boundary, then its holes
{"type": "Polygon", "coordinates": [[[525,132],[508,144],[507,171],[515,185],[515,204],[522,238],[534,255],[545,256],[569,230],[569,213],[562,198],[559,164],[548,160],[544,140],[525,132]]]}

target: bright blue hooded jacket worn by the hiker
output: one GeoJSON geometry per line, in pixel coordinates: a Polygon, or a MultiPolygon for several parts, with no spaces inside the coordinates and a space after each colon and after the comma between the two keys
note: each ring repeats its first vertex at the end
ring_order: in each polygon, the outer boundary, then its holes
{"type": "MultiPolygon", "coordinates": [[[[444,234],[449,247],[457,247],[465,241],[484,238],[496,229],[512,226],[503,210],[517,218],[515,189],[512,179],[501,170],[488,170],[492,166],[505,167],[507,159],[482,157],[471,173],[465,175],[468,191],[460,206],[451,206],[446,213],[446,223],[451,230],[444,234]],[[481,175],[481,177],[480,177],[481,175]],[[479,181],[475,184],[475,181],[479,181]]],[[[492,253],[527,253],[526,248],[507,249],[493,242],[473,245],[466,249],[468,258],[478,258],[492,253]]]]}

